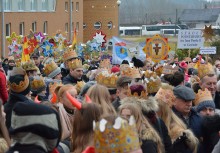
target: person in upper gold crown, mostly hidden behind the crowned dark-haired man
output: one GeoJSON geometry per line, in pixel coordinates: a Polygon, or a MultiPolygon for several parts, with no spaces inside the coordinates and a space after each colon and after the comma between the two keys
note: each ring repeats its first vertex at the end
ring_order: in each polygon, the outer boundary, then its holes
{"type": "Polygon", "coordinates": [[[67,48],[67,50],[63,53],[63,63],[60,65],[62,80],[69,74],[69,65],[68,62],[76,59],[78,57],[77,53],[71,48],[67,48]]]}

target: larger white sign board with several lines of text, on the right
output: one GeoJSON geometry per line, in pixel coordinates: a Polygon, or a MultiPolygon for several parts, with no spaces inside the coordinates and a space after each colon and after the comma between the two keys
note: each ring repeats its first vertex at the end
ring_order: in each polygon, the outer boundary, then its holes
{"type": "Polygon", "coordinates": [[[178,33],[178,45],[180,49],[194,49],[203,47],[204,38],[201,30],[180,30],[178,33]]]}

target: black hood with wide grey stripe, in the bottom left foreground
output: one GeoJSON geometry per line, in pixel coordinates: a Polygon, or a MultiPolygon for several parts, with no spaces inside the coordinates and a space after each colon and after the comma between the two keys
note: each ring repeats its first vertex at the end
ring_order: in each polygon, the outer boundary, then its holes
{"type": "Polygon", "coordinates": [[[14,145],[33,145],[44,152],[53,151],[61,137],[58,113],[52,108],[36,103],[17,103],[12,110],[9,129],[14,145]]]}

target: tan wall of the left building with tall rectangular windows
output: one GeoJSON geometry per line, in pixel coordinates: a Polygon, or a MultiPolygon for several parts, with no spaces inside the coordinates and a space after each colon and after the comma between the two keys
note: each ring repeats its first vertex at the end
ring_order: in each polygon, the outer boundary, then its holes
{"type": "MultiPolygon", "coordinates": [[[[80,0],[78,0],[80,1],[80,0]]],[[[72,0],[74,6],[77,0],[72,0]]],[[[72,12],[72,19],[73,23],[76,24],[79,22],[79,30],[78,30],[78,37],[77,40],[78,42],[82,42],[83,39],[83,4],[80,1],[79,2],[80,9],[78,12],[74,11],[72,12]]],[[[27,4],[25,5],[27,7],[27,4]]],[[[28,10],[28,9],[27,9],[28,10]]],[[[0,14],[0,25],[2,26],[1,23],[1,14],[0,14]]],[[[70,40],[69,38],[69,33],[65,32],[65,24],[70,22],[69,18],[69,0],[56,0],[56,9],[54,12],[49,11],[24,11],[20,12],[17,11],[15,12],[5,12],[5,25],[8,23],[11,23],[11,33],[15,32],[17,35],[19,34],[19,24],[21,22],[24,22],[24,35],[28,35],[30,29],[32,28],[32,23],[36,22],[37,23],[37,32],[43,32],[43,24],[44,22],[47,21],[48,23],[48,36],[54,36],[57,32],[57,30],[61,30],[62,34],[70,40]],[[68,10],[65,11],[65,2],[68,2],[68,10]]],[[[68,29],[69,31],[69,29],[68,29]]],[[[1,32],[1,29],[0,29],[1,32]]],[[[73,30],[72,30],[73,32],[73,30]]],[[[1,32],[2,33],[2,32],[1,32]]],[[[0,49],[1,49],[1,42],[2,42],[2,37],[0,38],[0,49]]],[[[71,38],[72,39],[72,38],[71,38]]],[[[5,40],[5,56],[8,56],[8,42],[5,40]]],[[[1,56],[1,53],[0,53],[1,56]]]]}

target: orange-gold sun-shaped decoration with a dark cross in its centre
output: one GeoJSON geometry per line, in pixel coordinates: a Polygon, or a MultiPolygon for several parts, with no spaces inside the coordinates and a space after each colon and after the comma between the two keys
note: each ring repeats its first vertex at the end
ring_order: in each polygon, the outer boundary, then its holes
{"type": "Polygon", "coordinates": [[[159,63],[167,57],[170,50],[168,39],[154,35],[146,40],[146,46],[143,50],[146,53],[146,58],[151,58],[155,63],[159,63]]]}

